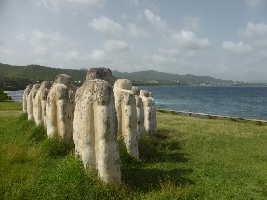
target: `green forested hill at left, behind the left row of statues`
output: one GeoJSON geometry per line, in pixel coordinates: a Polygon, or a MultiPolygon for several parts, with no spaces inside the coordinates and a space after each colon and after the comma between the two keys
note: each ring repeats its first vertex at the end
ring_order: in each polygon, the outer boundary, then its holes
{"type": "Polygon", "coordinates": [[[67,74],[75,81],[85,81],[87,71],[77,69],[56,69],[40,65],[12,66],[0,63],[0,78],[20,78],[54,81],[58,74],[67,74]]]}

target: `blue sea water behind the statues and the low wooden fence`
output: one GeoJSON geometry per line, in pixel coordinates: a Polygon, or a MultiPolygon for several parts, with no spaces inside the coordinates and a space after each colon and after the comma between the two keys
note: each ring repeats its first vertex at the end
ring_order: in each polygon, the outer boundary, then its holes
{"type": "MultiPolygon", "coordinates": [[[[267,120],[267,87],[138,86],[152,92],[156,107],[267,120]]],[[[24,90],[7,91],[22,100],[24,90]]]]}

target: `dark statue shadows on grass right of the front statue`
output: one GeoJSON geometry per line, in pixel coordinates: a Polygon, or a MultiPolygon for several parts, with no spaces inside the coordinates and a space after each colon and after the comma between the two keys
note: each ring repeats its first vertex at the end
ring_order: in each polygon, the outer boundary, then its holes
{"type": "MultiPolygon", "coordinates": [[[[157,133],[155,136],[148,136],[139,145],[140,159],[142,162],[135,165],[121,167],[122,180],[140,191],[160,190],[170,184],[179,185],[194,184],[191,179],[186,178],[192,169],[170,168],[158,169],[157,165],[165,165],[169,162],[187,162],[186,154],[182,150],[180,142],[173,140],[167,134],[157,133]],[[155,168],[153,168],[155,164],[155,168]],[[145,167],[148,166],[148,169],[145,167]]],[[[171,167],[172,166],[172,167],[171,167]]]]}

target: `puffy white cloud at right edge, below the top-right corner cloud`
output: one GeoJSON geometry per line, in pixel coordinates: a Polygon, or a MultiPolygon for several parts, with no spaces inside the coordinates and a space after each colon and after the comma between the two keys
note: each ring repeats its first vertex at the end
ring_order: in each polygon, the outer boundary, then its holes
{"type": "Polygon", "coordinates": [[[245,30],[239,28],[237,33],[245,37],[263,37],[267,35],[267,24],[264,22],[254,24],[248,21],[247,28],[245,30]]]}

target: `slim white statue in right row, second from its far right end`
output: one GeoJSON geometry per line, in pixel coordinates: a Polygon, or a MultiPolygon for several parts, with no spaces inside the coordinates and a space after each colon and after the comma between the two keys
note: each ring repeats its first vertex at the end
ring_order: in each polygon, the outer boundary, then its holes
{"type": "Polygon", "coordinates": [[[149,93],[147,90],[140,90],[140,97],[142,98],[144,106],[145,130],[148,134],[154,135],[154,109],[152,98],[149,97],[149,93]]]}

